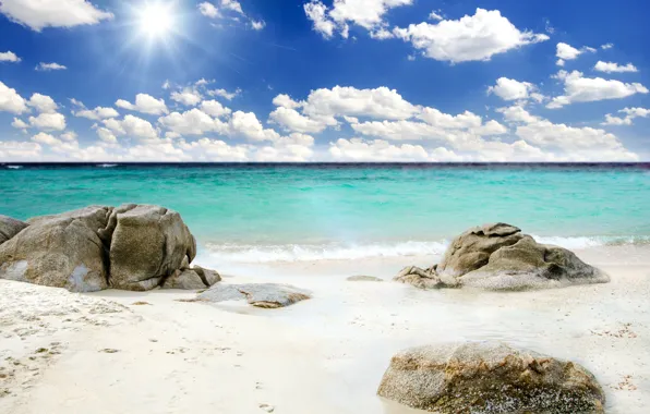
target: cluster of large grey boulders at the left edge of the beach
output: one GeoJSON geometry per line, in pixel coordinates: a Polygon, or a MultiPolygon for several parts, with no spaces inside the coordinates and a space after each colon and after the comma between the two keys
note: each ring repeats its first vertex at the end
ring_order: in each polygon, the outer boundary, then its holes
{"type": "Polygon", "coordinates": [[[196,241],[159,206],[89,206],[22,222],[0,216],[0,279],[72,292],[205,289],[216,271],[191,267],[196,241]]]}

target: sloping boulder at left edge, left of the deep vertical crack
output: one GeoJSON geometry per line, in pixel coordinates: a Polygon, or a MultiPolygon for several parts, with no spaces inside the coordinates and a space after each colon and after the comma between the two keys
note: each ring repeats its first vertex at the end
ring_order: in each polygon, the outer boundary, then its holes
{"type": "Polygon", "coordinates": [[[107,288],[106,245],[99,238],[110,207],[91,206],[31,219],[29,226],[0,245],[0,279],[72,292],[107,288]]]}

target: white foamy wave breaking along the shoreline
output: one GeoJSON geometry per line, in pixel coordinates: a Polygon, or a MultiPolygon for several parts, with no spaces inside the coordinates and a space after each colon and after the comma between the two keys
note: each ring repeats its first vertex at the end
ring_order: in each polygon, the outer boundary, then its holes
{"type": "MultiPolygon", "coordinates": [[[[607,245],[650,244],[650,236],[534,236],[543,244],[579,251],[607,245]]],[[[207,243],[209,256],[227,263],[294,263],[317,260],[356,260],[381,257],[441,256],[449,241],[394,242],[366,244],[219,244],[207,243]]]]}

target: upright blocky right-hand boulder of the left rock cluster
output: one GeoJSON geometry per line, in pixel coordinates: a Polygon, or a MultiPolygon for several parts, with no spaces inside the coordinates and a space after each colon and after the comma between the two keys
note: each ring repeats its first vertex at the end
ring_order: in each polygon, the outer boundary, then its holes
{"type": "Polygon", "coordinates": [[[160,285],[196,256],[196,241],[170,209],[123,205],[110,215],[110,284],[116,289],[146,291],[160,285]]]}

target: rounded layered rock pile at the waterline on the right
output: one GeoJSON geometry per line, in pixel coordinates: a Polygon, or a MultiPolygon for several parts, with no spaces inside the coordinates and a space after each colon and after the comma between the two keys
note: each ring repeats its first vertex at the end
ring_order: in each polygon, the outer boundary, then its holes
{"type": "Polygon", "coordinates": [[[421,289],[525,290],[605,283],[610,278],[566,248],[540,244],[514,226],[496,223],[454,239],[440,265],[405,268],[395,280],[421,289]]]}

